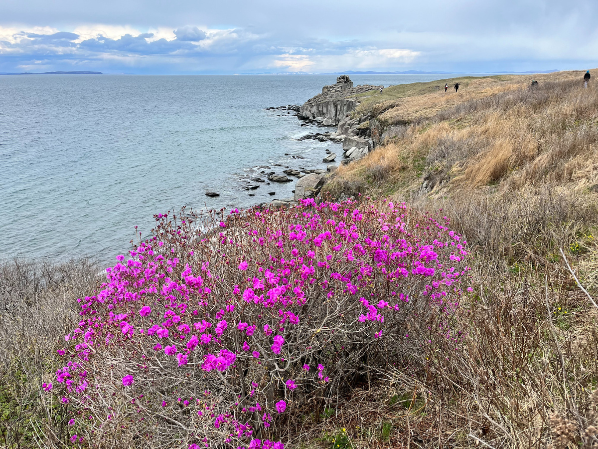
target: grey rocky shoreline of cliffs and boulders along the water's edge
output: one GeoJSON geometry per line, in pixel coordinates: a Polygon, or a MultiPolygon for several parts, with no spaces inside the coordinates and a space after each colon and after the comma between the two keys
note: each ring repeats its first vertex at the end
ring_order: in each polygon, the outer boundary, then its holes
{"type": "MultiPolygon", "coordinates": [[[[317,140],[319,142],[334,142],[342,144],[343,159],[341,163],[350,163],[353,160],[366,156],[378,143],[376,139],[376,123],[370,123],[367,115],[352,117],[352,112],[359,105],[361,93],[378,90],[382,86],[353,87],[353,82],[347,75],[337,78],[337,83],[331,86],[322,87],[322,93],[310,98],[303,105],[285,105],[280,107],[269,107],[266,111],[274,111],[277,116],[295,116],[303,123],[301,126],[317,126],[318,128],[330,128],[336,126],[336,131],[315,132],[306,134],[298,140],[317,140]],[[374,132],[372,125],[374,126],[374,132]],[[374,138],[373,138],[374,137],[374,138]]],[[[337,169],[332,164],[337,159],[337,154],[327,149],[326,156],[322,159],[327,164],[327,169],[306,168],[298,166],[291,168],[282,163],[271,163],[259,165],[252,169],[254,173],[240,176],[243,190],[257,190],[260,186],[272,186],[273,183],[289,183],[293,178],[297,179],[295,189],[292,190],[291,198],[274,199],[270,202],[263,202],[261,207],[282,207],[298,204],[300,199],[315,198],[319,195],[326,177],[337,169]],[[329,164],[329,165],[328,165],[329,164]]],[[[285,153],[285,156],[291,154],[285,153]]],[[[293,159],[303,159],[301,155],[291,156],[293,159]]],[[[274,187],[270,188],[274,190],[274,187]]],[[[275,191],[267,192],[270,196],[276,195],[275,191]]],[[[255,194],[249,193],[249,196],[255,194]]],[[[218,192],[208,191],[206,196],[217,197],[218,192]]]]}

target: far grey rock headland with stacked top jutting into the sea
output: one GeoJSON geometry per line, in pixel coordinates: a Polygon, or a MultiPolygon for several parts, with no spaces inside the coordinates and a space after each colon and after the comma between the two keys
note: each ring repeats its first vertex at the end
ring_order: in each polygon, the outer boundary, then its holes
{"type": "Polygon", "coordinates": [[[353,87],[347,75],[340,75],[337,83],[322,87],[322,93],[307,100],[299,109],[298,117],[314,120],[322,125],[338,125],[359,104],[359,93],[380,89],[382,86],[353,87]]]}

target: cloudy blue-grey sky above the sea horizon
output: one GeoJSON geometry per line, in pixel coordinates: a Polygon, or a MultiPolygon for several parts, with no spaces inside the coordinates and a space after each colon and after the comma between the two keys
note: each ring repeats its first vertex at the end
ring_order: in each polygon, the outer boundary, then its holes
{"type": "Polygon", "coordinates": [[[2,0],[0,72],[598,66],[595,0],[2,0]]]}

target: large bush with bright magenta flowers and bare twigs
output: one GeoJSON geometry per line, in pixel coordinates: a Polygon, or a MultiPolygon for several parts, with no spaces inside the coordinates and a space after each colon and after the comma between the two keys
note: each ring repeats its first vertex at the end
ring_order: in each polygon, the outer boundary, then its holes
{"type": "Polygon", "coordinates": [[[156,220],[80,299],[60,350],[53,393],[77,409],[79,441],[282,449],[274,424],[365,360],[388,363],[386,342],[408,339],[411,321],[453,338],[468,268],[448,220],[313,200],[233,210],[209,229],[156,220]]]}

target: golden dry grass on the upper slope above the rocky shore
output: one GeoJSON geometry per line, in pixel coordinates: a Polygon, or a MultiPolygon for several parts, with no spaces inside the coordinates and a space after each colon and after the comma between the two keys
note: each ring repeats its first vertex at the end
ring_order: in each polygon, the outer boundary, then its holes
{"type": "Polygon", "coordinates": [[[396,138],[387,132],[385,145],[341,168],[337,180],[365,174],[365,184],[373,181],[375,188],[384,180],[401,180],[407,193],[417,190],[424,172],[440,170],[451,174],[442,183],[445,190],[494,183],[521,189],[547,181],[591,186],[598,177],[598,89],[596,83],[584,89],[581,77],[582,72],[535,75],[540,83],[535,88],[527,75],[475,78],[464,81],[459,93],[406,96],[392,108],[389,100],[370,102],[370,113],[382,105],[375,118],[387,130],[394,123],[411,125],[396,138]],[[368,177],[374,166],[386,166],[385,176],[368,177]]]}

